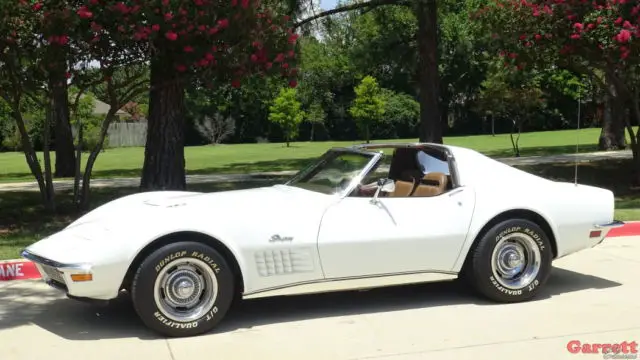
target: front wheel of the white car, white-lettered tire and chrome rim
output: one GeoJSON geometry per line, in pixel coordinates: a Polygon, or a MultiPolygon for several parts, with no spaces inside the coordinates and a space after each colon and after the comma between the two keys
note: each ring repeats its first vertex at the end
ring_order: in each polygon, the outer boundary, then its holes
{"type": "Polygon", "coordinates": [[[215,249],[197,242],[166,245],[140,265],[133,305],[152,330],[171,337],[212,330],[234,298],[234,276],[215,249]]]}

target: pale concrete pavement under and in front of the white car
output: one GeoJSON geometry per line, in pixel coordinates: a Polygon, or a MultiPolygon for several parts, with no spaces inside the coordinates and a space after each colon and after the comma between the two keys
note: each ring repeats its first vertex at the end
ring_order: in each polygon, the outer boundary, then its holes
{"type": "Polygon", "coordinates": [[[215,333],[169,340],[126,300],[100,308],[8,282],[0,359],[613,359],[623,354],[572,354],[567,344],[640,343],[640,237],[607,239],[554,266],[545,293],[522,304],[487,303],[457,283],[260,299],[215,333]]]}

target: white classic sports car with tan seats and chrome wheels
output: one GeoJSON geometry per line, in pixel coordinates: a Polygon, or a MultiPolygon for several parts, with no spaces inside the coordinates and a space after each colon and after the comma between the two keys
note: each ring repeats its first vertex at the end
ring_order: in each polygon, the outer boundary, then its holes
{"type": "Polygon", "coordinates": [[[552,260],[622,225],[613,213],[609,190],[466,148],[357,145],[329,150],[282,185],[126,196],[22,255],[73,299],[126,290],[149,328],[191,336],[240,298],[461,277],[494,301],[528,300],[552,260]]]}

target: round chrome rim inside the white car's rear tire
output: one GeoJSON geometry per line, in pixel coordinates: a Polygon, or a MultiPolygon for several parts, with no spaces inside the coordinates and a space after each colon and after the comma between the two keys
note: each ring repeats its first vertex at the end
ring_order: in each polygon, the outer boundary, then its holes
{"type": "Polygon", "coordinates": [[[540,248],[529,235],[514,233],[500,239],[491,257],[493,276],[508,289],[521,289],[540,272],[540,248]]]}

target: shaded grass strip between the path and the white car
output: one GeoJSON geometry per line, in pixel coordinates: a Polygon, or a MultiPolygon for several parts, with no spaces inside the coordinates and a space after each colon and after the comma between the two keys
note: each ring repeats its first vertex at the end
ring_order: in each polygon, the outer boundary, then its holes
{"type": "MultiPolygon", "coordinates": [[[[573,181],[573,164],[544,164],[519,168],[554,180],[573,181]]],[[[630,160],[583,163],[579,165],[579,179],[582,184],[614,191],[617,219],[640,220],[638,190],[629,186],[631,169],[630,160]]],[[[280,181],[194,184],[189,186],[189,190],[221,191],[266,186],[278,182],[280,181]]],[[[136,191],[136,188],[95,189],[92,192],[92,206],[96,207],[136,191]]],[[[62,229],[79,216],[72,211],[68,203],[69,196],[59,194],[58,199],[59,214],[52,216],[43,212],[37,192],[1,193],[0,260],[17,258],[25,246],[62,229]]]]}

